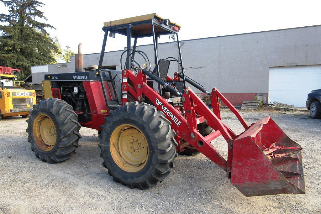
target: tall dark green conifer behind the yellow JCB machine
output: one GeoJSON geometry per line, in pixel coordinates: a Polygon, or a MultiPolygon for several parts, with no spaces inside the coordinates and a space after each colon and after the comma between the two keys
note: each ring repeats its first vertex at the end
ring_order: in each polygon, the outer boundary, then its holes
{"type": "Polygon", "coordinates": [[[44,5],[35,0],[0,0],[9,14],[0,14],[0,66],[20,69],[20,79],[31,73],[32,65],[49,64],[59,53],[46,29],[55,29],[37,9],[44,5]]]}

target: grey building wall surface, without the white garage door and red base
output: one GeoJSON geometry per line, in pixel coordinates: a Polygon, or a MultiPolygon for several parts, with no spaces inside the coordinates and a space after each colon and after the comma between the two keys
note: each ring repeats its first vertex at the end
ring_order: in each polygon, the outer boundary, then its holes
{"type": "MultiPolygon", "coordinates": [[[[245,98],[256,93],[268,95],[270,67],[321,64],[319,38],[320,25],[185,40],[180,42],[180,46],[187,76],[201,83],[207,90],[216,87],[221,93],[230,94],[230,97],[244,94],[245,98]]],[[[152,45],[138,46],[136,49],[144,51],[154,64],[152,45]]],[[[177,49],[176,42],[160,44],[159,58],[172,56],[178,59],[177,49]]],[[[105,53],[103,66],[116,65],[117,70],[120,70],[122,52],[105,53]]],[[[84,67],[98,65],[99,57],[99,53],[84,55],[84,67]]],[[[144,63],[137,54],[136,59],[144,63]]],[[[48,73],[74,72],[74,56],[67,67],[55,66],[48,65],[48,73]]],[[[172,76],[176,71],[178,64],[172,62],[169,75],[172,76]]],[[[231,102],[239,105],[241,100],[242,97],[231,102]]]]}

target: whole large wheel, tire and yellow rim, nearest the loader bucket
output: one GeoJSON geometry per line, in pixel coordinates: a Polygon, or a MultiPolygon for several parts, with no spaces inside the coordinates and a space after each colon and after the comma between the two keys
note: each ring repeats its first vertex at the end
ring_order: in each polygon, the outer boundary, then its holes
{"type": "Polygon", "coordinates": [[[140,189],[163,181],[177,157],[170,125],[163,113],[146,103],[128,102],[110,111],[98,146],[113,180],[140,189]]]}

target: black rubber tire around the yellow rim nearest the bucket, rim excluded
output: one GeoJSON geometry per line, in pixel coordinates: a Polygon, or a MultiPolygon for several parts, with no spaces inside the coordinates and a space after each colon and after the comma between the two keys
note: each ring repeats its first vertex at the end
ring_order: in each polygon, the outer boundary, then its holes
{"type": "MultiPolygon", "coordinates": [[[[116,128],[116,127],[115,127],[116,128]]],[[[109,136],[109,135],[108,135],[109,136]]],[[[110,111],[110,115],[105,117],[105,124],[102,126],[102,132],[100,134],[101,142],[98,145],[101,149],[100,157],[104,159],[102,165],[108,168],[108,174],[113,176],[115,182],[127,185],[129,188],[148,189],[157,185],[169,175],[170,169],[174,166],[174,158],[177,157],[176,147],[177,142],[174,139],[175,133],[171,129],[171,123],[165,118],[164,114],[149,104],[128,102],[124,106],[118,106],[115,110],[110,111]],[[135,116],[133,116],[135,115],[135,116]],[[127,178],[122,176],[121,172],[125,172],[120,168],[115,167],[115,163],[110,163],[112,159],[109,151],[109,140],[106,140],[107,134],[113,131],[113,123],[119,118],[136,118],[141,123],[149,126],[156,142],[155,148],[157,150],[156,163],[150,165],[151,170],[148,170],[144,175],[133,175],[133,177],[127,178]],[[149,125],[148,125],[149,124],[149,125]]],[[[152,162],[152,161],[151,161],[152,162]]],[[[147,163],[148,164],[148,163],[147,163]]],[[[145,166],[147,167],[147,165],[145,166]]],[[[142,171],[142,170],[141,170],[142,171]]],[[[140,173],[138,171],[137,173],[140,173]]],[[[133,174],[137,174],[133,173],[133,174]]]]}

